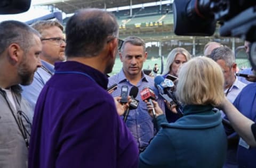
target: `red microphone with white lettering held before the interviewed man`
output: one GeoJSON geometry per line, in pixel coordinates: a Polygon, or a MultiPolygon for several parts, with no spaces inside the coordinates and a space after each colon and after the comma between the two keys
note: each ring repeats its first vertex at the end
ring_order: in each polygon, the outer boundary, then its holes
{"type": "Polygon", "coordinates": [[[156,122],[156,111],[154,109],[154,105],[153,105],[153,102],[152,102],[152,99],[153,100],[156,99],[156,95],[154,93],[154,90],[152,90],[150,88],[144,88],[140,92],[140,95],[141,95],[141,99],[143,101],[148,100],[148,102],[153,106],[153,110],[152,110],[153,111],[153,122],[154,122],[156,130],[158,131],[158,129],[157,129],[157,122],[156,122]]]}

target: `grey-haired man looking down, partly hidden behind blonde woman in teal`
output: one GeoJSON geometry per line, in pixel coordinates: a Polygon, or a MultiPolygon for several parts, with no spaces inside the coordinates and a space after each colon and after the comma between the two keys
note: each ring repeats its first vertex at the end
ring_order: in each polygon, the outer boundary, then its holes
{"type": "MultiPolygon", "coordinates": [[[[210,57],[221,66],[225,78],[224,93],[229,102],[233,103],[237,95],[246,86],[246,84],[239,81],[235,75],[237,67],[235,63],[235,55],[229,47],[217,47],[213,49],[210,57]]],[[[222,118],[225,117],[225,114],[222,111],[221,115],[222,118]]],[[[229,135],[227,159],[223,167],[237,167],[237,143],[237,134],[229,135]]]]}

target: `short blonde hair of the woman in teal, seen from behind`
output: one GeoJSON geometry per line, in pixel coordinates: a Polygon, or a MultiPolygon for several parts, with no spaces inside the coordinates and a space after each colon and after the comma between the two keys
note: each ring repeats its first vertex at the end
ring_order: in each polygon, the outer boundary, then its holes
{"type": "Polygon", "coordinates": [[[220,66],[207,57],[196,57],[182,66],[177,94],[184,105],[216,106],[225,97],[224,78],[220,66]]]}

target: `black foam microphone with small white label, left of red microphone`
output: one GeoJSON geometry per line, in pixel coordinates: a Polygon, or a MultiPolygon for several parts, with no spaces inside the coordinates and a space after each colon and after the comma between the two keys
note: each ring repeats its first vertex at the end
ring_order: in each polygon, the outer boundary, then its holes
{"type": "Polygon", "coordinates": [[[130,110],[136,109],[139,105],[139,100],[135,99],[135,97],[137,97],[138,95],[138,92],[139,92],[139,89],[136,86],[133,86],[130,90],[129,95],[131,96],[132,102],[130,103],[129,108],[124,112],[124,122],[126,122],[127,116],[129,115],[130,110]]]}

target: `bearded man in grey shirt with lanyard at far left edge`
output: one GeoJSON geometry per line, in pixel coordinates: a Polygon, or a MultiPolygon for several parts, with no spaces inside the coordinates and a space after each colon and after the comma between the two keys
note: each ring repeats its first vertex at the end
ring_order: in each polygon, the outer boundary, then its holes
{"type": "Polygon", "coordinates": [[[32,109],[21,97],[42,64],[39,33],[19,21],[0,23],[0,167],[27,168],[32,109]]]}

